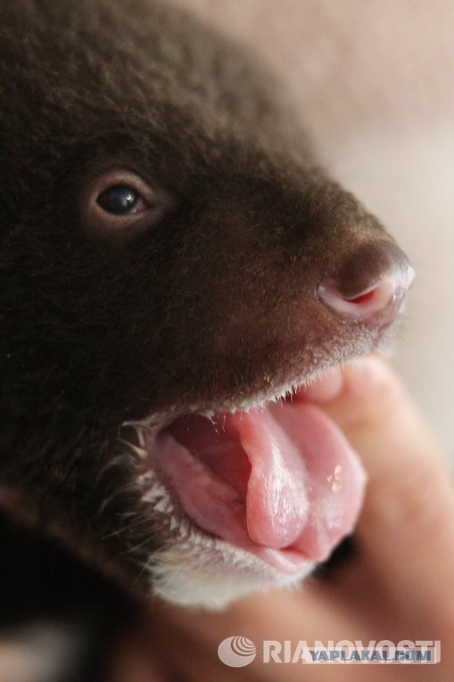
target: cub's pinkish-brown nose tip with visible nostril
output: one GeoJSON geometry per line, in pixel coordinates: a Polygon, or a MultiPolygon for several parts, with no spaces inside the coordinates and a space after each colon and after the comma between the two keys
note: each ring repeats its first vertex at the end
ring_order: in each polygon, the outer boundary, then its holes
{"type": "Polygon", "coordinates": [[[346,319],[384,325],[399,315],[414,278],[409,259],[396,244],[368,243],[337,275],[320,283],[318,293],[328,308],[346,319]]]}

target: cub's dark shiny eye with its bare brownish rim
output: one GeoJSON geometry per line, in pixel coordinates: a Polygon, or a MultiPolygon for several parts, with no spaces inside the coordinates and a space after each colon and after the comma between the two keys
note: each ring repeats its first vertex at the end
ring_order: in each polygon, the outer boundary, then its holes
{"type": "Polygon", "coordinates": [[[80,197],[82,224],[103,233],[153,227],[174,206],[161,185],[130,170],[115,168],[95,177],[80,197]]]}

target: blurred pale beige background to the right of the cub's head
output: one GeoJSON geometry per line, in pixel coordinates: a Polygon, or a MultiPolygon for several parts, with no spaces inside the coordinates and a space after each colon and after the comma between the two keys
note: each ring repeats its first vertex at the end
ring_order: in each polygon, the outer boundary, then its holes
{"type": "Polygon", "coordinates": [[[454,457],[454,2],[178,1],[260,53],[319,159],[413,261],[392,359],[454,457]]]}

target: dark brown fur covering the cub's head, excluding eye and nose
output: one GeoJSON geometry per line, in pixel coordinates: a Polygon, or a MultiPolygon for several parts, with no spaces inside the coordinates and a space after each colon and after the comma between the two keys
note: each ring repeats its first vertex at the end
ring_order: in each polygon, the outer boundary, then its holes
{"type": "Polygon", "coordinates": [[[2,0],[0,84],[3,506],[136,589],[161,538],[122,424],[370,349],[317,286],[390,238],[253,60],[168,6],[2,0]],[[159,225],[85,218],[118,167],[171,194],[159,225]]]}

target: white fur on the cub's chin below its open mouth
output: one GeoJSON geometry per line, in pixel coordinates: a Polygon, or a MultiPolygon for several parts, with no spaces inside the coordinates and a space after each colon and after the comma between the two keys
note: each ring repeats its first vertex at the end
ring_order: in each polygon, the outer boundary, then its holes
{"type": "MultiPolygon", "coordinates": [[[[220,609],[251,592],[298,585],[313,569],[286,575],[246,550],[196,528],[176,509],[169,489],[153,469],[136,480],[150,518],[161,526],[162,548],[144,571],[153,595],[182,606],[220,609]]],[[[178,505],[177,505],[178,506],[178,505]]]]}

